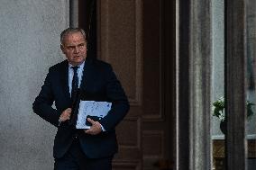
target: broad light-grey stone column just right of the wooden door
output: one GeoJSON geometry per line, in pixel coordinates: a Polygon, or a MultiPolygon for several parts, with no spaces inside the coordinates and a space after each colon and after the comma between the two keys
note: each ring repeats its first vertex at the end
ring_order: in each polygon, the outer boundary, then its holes
{"type": "Polygon", "coordinates": [[[211,1],[179,4],[178,170],[211,169],[211,1]]]}

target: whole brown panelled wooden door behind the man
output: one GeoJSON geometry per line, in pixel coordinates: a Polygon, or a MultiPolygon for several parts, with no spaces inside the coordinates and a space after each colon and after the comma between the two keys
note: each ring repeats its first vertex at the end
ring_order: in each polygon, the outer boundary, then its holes
{"type": "Polygon", "coordinates": [[[131,103],[116,128],[114,170],[169,166],[175,155],[175,1],[98,0],[96,15],[97,58],[112,64],[131,103]]]}

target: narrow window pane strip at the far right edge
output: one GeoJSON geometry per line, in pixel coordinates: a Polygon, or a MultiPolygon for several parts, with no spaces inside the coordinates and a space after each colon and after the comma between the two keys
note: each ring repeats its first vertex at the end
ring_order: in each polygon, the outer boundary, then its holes
{"type": "Polygon", "coordinates": [[[246,5],[246,38],[247,38],[247,124],[246,138],[248,141],[248,170],[256,168],[256,115],[255,106],[251,107],[250,103],[256,104],[256,4],[254,0],[248,0],[246,5]],[[251,115],[252,112],[254,114],[251,115]]]}

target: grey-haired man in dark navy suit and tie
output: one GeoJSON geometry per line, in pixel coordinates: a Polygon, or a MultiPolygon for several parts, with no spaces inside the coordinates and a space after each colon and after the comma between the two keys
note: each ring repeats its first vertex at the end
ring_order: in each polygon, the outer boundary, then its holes
{"type": "Polygon", "coordinates": [[[60,42],[67,60],[50,67],[33,103],[33,111],[58,128],[54,169],[111,170],[117,152],[114,128],[129,111],[127,97],[109,64],[87,58],[85,31],[66,29],[60,34],[60,42]],[[75,106],[80,99],[111,102],[112,107],[100,121],[88,118],[89,130],[77,130],[75,106]]]}

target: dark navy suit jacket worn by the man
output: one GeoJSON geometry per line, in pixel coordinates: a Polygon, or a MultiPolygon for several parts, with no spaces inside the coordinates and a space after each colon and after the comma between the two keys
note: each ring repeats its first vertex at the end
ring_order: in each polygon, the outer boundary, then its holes
{"type": "Polygon", "coordinates": [[[112,102],[110,112],[100,123],[105,132],[87,135],[83,130],[75,130],[69,123],[59,125],[61,112],[71,107],[69,94],[69,63],[67,60],[50,67],[40,94],[33,103],[33,111],[45,121],[58,127],[54,139],[53,157],[60,158],[68,151],[74,134],[78,133],[81,148],[87,157],[110,157],[117,152],[115,126],[129,111],[129,103],[112,67],[96,59],[87,59],[80,85],[83,100],[112,102]],[[56,109],[52,108],[55,102],[56,109]]]}

